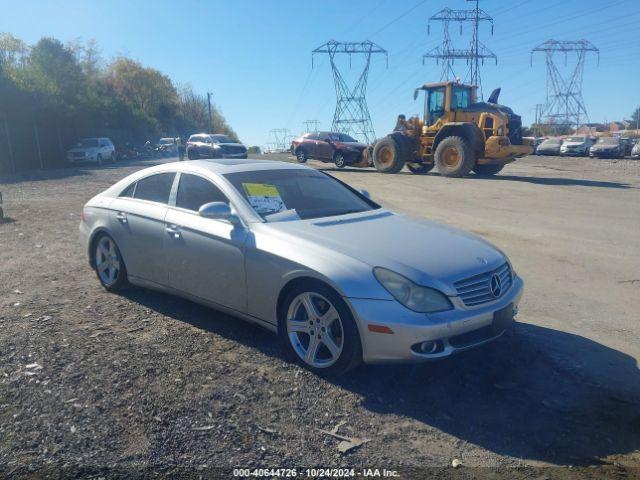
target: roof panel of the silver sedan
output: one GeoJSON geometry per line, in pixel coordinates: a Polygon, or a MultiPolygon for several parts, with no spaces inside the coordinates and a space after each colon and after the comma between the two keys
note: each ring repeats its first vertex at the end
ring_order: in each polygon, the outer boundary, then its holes
{"type": "Polygon", "coordinates": [[[281,162],[277,160],[258,160],[254,158],[248,159],[235,159],[235,158],[220,158],[211,160],[187,160],[184,162],[171,162],[163,163],[147,169],[155,172],[164,171],[206,171],[217,174],[226,174],[233,172],[248,172],[255,170],[303,170],[307,169],[304,165],[299,165],[290,162],[281,162]]]}

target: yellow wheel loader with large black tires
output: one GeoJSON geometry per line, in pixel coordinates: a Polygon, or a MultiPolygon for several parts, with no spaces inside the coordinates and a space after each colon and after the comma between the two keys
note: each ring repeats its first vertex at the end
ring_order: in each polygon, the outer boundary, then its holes
{"type": "Polygon", "coordinates": [[[495,175],[509,162],[532,152],[522,138],[520,117],[498,105],[500,89],[487,102],[477,101],[477,88],[455,81],[431,83],[424,92],[424,118],[400,119],[396,131],[367,150],[375,168],[397,173],[406,165],[415,174],[435,166],[441,175],[462,177],[473,170],[495,175]]]}

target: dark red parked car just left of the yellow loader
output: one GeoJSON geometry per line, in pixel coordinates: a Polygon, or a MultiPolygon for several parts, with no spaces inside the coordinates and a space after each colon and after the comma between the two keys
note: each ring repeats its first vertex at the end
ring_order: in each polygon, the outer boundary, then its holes
{"type": "Polygon", "coordinates": [[[335,132],[305,133],[291,142],[291,153],[298,162],[305,163],[313,158],[333,162],[338,168],[361,162],[366,148],[364,143],[349,135],[335,132]]]}

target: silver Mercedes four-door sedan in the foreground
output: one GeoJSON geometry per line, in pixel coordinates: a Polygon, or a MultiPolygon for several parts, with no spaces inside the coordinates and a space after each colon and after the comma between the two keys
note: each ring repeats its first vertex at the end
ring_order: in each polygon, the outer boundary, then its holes
{"type": "Polygon", "coordinates": [[[328,374],[498,338],[523,288],[486,241],[274,161],[141,170],[85,205],[80,239],[107,290],[153,288],[258,323],[328,374]]]}

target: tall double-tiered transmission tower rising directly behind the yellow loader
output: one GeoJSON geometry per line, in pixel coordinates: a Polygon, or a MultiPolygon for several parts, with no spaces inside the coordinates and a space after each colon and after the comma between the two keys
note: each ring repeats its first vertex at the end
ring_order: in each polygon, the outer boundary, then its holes
{"type": "Polygon", "coordinates": [[[427,58],[436,59],[436,62],[442,61],[442,73],[440,80],[454,80],[456,78],[453,64],[455,60],[465,60],[468,65],[465,81],[469,81],[472,85],[480,87],[480,96],[482,96],[482,80],[480,78],[480,64],[484,65],[485,59],[493,59],[498,64],[498,57],[489,50],[480,41],[480,23],[489,22],[491,24],[491,34],[493,35],[493,18],[480,8],[478,0],[473,1],[476,8],[471,10],[452,10],[445,8],[429,18],[427,31],[431,33],[431,24],[433,22],[442,22],[443,41],[440,45],[427,52],[422,57],[424,64],[427,58]],[[451,41],[449,33],[449,24],[455,22],[459,25],[460,34],[462,34],[462,26],[469,22],[473,25],[473,34],[471,36],[471,45],[469,48],[455,48],[451,41]]]}

